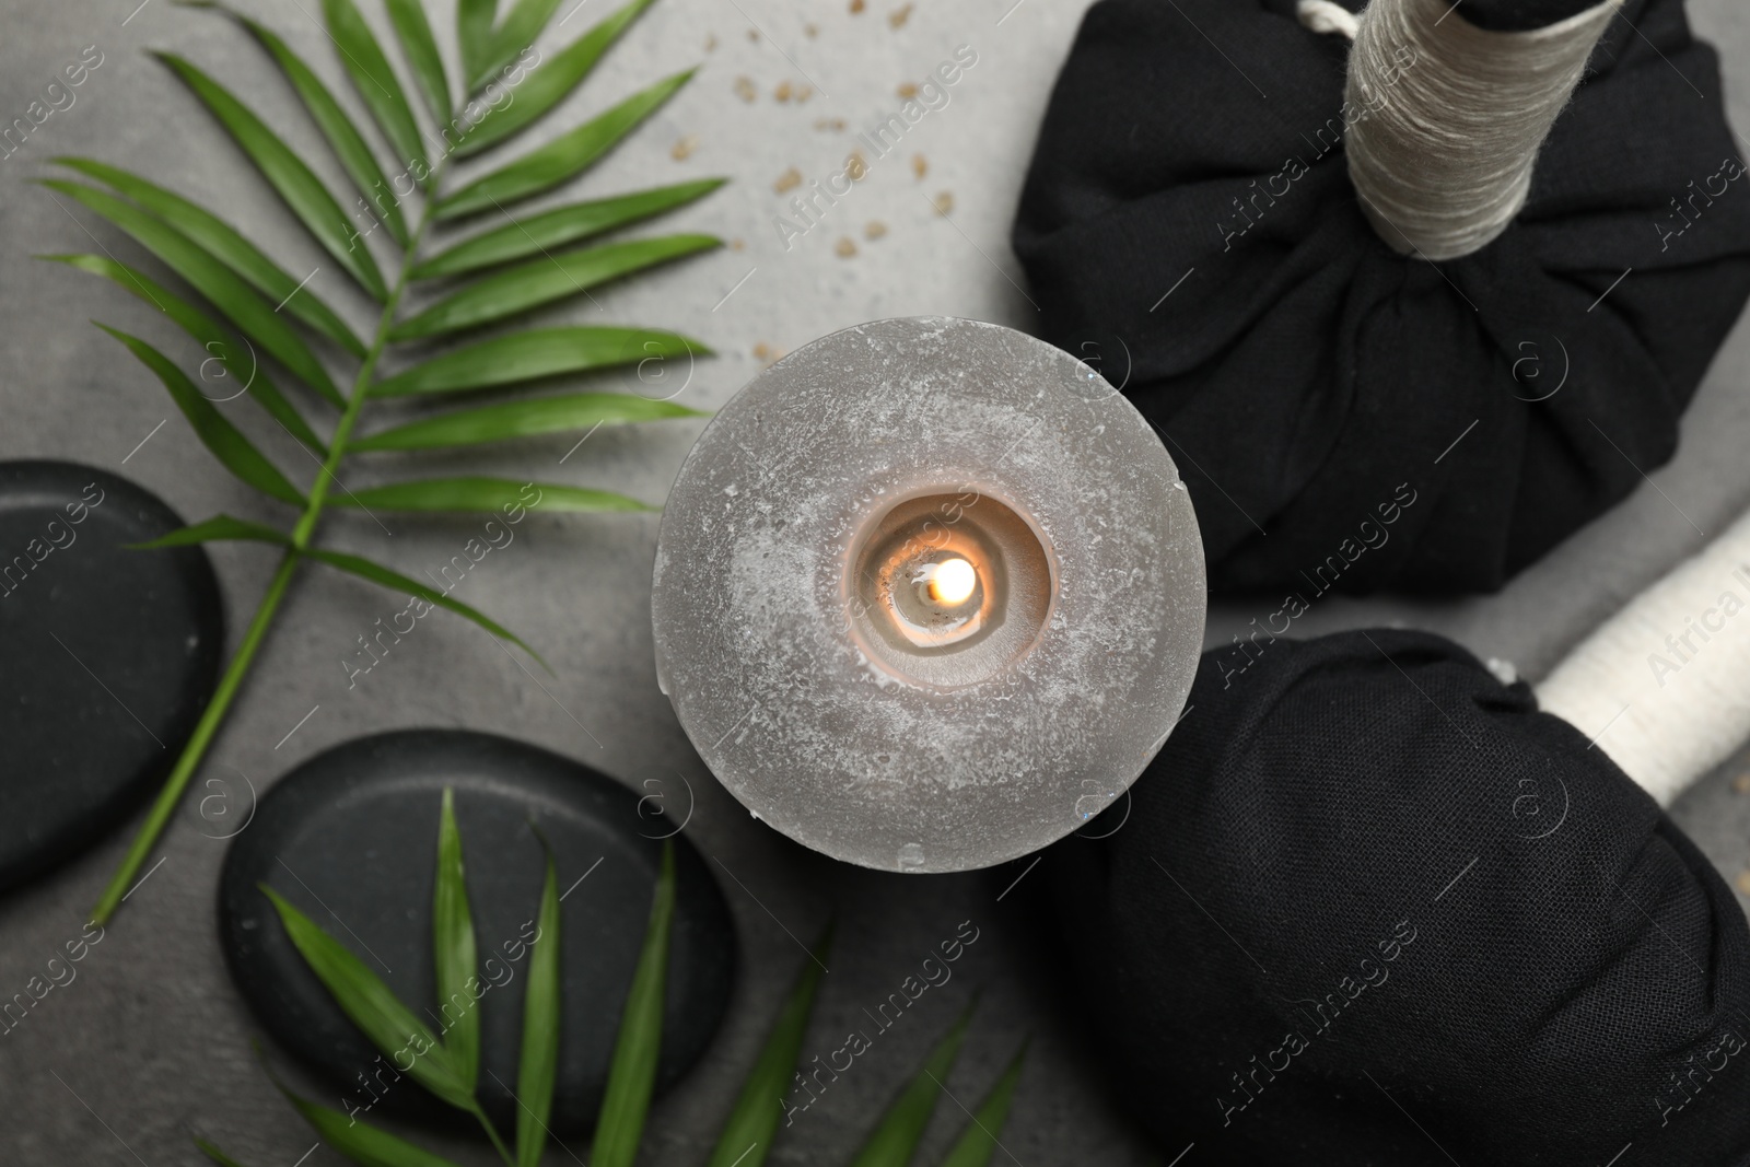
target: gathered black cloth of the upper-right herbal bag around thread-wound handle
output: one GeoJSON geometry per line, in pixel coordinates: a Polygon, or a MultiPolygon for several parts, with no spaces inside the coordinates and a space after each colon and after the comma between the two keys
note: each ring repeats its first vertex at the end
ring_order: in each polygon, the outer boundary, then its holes
{"type": "Polygon", "coordinates": [[[1349,184],[1348,47],[1292,0],[1096,3],[1015,252],[1040,334],[1166,436],[1213,588],[1494,590],[1673,455],[1750,296],[1750,175],[1682,3],[1631,0],[1516,224],[1402,257],[1349,184]],[[1419,502],[1363,549],[1395,493],[1419,502]]]}

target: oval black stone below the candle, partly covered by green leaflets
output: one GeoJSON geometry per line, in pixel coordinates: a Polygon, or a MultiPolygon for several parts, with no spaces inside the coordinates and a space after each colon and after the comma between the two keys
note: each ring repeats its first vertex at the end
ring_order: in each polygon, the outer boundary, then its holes
{"type": "MultiPolygon", "coordinates": [[[[550,1127],[562,1137],[579,1132],[595,1123],[644,943],[658,838],[676,829],[690,801],[677,779],[642,791],[668,800],[668,819],[654,814],[653,801],[642,801],[640,815],[640,793],[584,765],[488,733],[408,730],[338,745],[285,775],[226,854],[219,934],[231,975],[261,1025],[329,1080],[331,1092],[317,1102],[422,1122],[460,1116],[411,1078],[394,1081],[390,1059],[378,1060],[378,1050],[340,1011],[257,887],[266,884],[298,905],[439,1032],[430,903],[446,786],[455,789],[480,976],[492,985],[478,1004],[480,1099],[500,1130],[514,1129],[511,1088],[528,959],[508,959],[504,945],[534,934],[542,880],[534,821],[553,845],[560,891],[570,889],[562,901],[565,992],[550,1127]],[[380,1081],[371,1080],[378,1071],[380,1081]],[[360,1074],[371,1080],[369,1090],[360,1074]]],[[[735,983],[735,922],[723,891],[698,850],[684,836],[674,842],[658,1090],[704,1053],[735,983]]]]}

